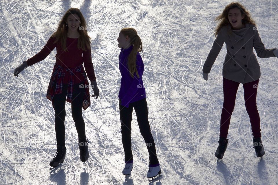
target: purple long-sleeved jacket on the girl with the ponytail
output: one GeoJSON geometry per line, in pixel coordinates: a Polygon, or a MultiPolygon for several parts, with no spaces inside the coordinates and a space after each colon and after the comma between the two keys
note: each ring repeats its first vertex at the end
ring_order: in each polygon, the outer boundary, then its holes
{"type": "Polygon", "coordinates": [[[118,97],[121,100],[121,105],[125,107],[128,107],[129,103],[146,98],[146,90],[142,81],[144,64],[139,52],[137,52],[136,56],[136,68],[139,78],[137,78],[136,73],[133,74],[134,78],[132,78],[128,71],[127,60],[132,48],[132,45],[128,49],[121,48],[119,56],[119,69],[122,79],[118,97]]]}

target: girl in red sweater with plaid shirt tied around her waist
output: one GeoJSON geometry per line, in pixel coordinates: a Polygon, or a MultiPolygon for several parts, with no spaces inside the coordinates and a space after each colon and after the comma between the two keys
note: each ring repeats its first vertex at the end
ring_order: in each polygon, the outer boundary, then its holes
{"type": "Polygon", "coordinates": [[[85,162],[89,157],[88,142],[82,108],[90,106],[89,82],[91,81],[96,99],[99,90],[96,84],[91,56],[91,42],[86,30],[85,18],[78,8],[70,8],[64,14],[56,32],[47,41],[43,49],[14,70],[14,76],[45,59],[56,48],[56,63],[47,89],[47,99],[52,101],[55,112],[55,132],[57,150],[50,166],[58,166],[65,160],[65,101],[72,103],[72,118],[78,133],[80,159],[85,162]],[[86,73],[83,68],[83,64],[86,73]]]}

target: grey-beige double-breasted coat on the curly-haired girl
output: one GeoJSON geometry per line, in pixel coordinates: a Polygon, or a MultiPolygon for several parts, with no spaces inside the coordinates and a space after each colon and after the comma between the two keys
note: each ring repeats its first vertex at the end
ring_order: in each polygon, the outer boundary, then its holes
{"type": "Polygon", "coordinates": [[[239,30],[232,30],[230,25],[222,27],[206,58],[203,72],[209,73],[211,71],[211,67],[225,42],[227,54],[223,63],[223,77],[242,84],[259,79],[261,71],[253,47],[259,58],[275,57],[275,55],[273,54],[274,49],[264,47],[256,28],[251,24],[246,24],[244,28],[239,30]]]}

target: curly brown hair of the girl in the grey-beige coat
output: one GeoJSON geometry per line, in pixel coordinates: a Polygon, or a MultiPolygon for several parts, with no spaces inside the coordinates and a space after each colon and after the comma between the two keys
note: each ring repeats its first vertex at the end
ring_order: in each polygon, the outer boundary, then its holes
{"type": "Polygon", "coordinates": [[[229,21],[229,18],[228,18],[228,12],[229,12],[229,10],[231,10],[233,8],[238,8],[240,10],[241,14],[244,14],[244,18],[242,19],[243,24],[249,23],[249,24],[256,26],[255,21],[253,20],[253,18],[251,18],[250,12],[248,10],[246,10],[246,8],[241,3],[239,3],[239,2],[230,3],[225,7],[222,14],[220,14],[219,16],[217,16],[215,18],[215,21],[220,21],[220,23],[215,28],[215,37],[217,36],[219,30],[223,26],[226,26],[226,25],[232,26],[229,21]]]}

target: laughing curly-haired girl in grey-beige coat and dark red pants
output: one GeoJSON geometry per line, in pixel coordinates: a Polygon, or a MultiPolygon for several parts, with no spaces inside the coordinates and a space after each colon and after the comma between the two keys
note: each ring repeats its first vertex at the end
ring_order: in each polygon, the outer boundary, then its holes
{"type": "Polygon", "coordinates": [[[261,72],[253,47],[260,58],[278,57],[278,50],[265,49],[255,21],[240,3],[228,4],[216,20],[220,21],[215,31],[217,37],[203,66],[203,78],[207,80],[208,73],[225,42],[227,54],[223,64],[224,102],[220,118],[219,146],[215,156],[222,159],[226,151],[228,128],[235,107],[237,89],[239,83],[242,83],[245,106],[252,127],[253,147],[257,157],[261,157],[265,152],[261,142],[260,117],[256,105],[261,72]]]}

